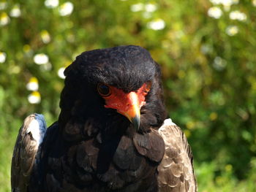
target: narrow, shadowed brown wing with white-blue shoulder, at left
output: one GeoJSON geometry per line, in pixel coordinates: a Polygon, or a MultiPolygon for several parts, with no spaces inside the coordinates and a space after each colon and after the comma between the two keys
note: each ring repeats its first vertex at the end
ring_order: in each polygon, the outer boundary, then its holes
{"type": "Polygon", "coordinates": [[[32,114],[21,126],[12,155],[12,192],[26,192],[39,145],[45,135],[43,115],[32,114]]]}

